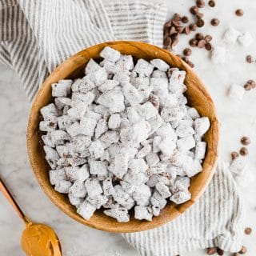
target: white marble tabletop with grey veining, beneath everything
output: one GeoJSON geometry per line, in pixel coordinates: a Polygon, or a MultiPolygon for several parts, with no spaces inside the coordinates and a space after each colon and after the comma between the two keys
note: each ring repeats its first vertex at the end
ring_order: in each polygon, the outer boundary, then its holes
{"type": "MultiPolygon", "coordinates": [[[[205,50],[193,49],[191,60],[195,70],[201,76],[216,103],[219,118],[222,121],[222,139],[220,154],[226,160],[230,159],[230,151],[241,146],[239,139],[248,135],[252,139],[249,146],[251,169],[256,177],[256,89],[246,92],[242,102],[232,101],[226,97],[226,92],[232,83],[243,85],[248,79],[256,79],[256,64],[245,62],[246,54],[256,57],[256,2],[250,0],[216,1],[214,9],[206,7],[206,26],[203,33],[214,36],[214,44],[222,44],[222,33],[227,26],[232,25],[238,30],[248,30],[254,35],[254,44],[248,48],[228,46],[233,55],[225,64],[214,65],[205,50]],[[242,8],[245,15],[238,18],[234,10],[242,8]],[[219,18],[221,25],[209,26],[210,18],[219,18]]],[[[190,0],[168,1],[168,16],[174,12],[188,14],[190,0]]],[[[191,37],[190,37],[191,38],[191,37]]],[[[183,38],[184,39],[184,38],[183,38]]],[[[179,49],[187,45],[183,40],[179,49]]],[[[30,106],[26,101],[22,86],[13,71],[6,66],[0,66],[0,174],[6,181],[14,197],[26,214],[36,222],[49,224],[56,230],[62,242],[64,256],[137,256],[118,234],[105,233],[82,226],[70,219],[54,206],[38,186],[26,154],[26,121],[30,106]]],[[[246,204],[246,225],[254,228],[254,233],[245,238],[248,246],[248,256],[256,252],[256,201],[254,194],[256,186],[248,186],[242,190],[246,204]]],[[[24,225],[15,214],[6,199],[0,194],[0,255],[23,255],[19,246],[24,225]]],[[[182,256],[204,255],[198,250],[182,256]]],[[[158,256],[158,255],[156,255],[158,256]]],[[[166,255],[167,256],[167,255],[166,255]]]]}

